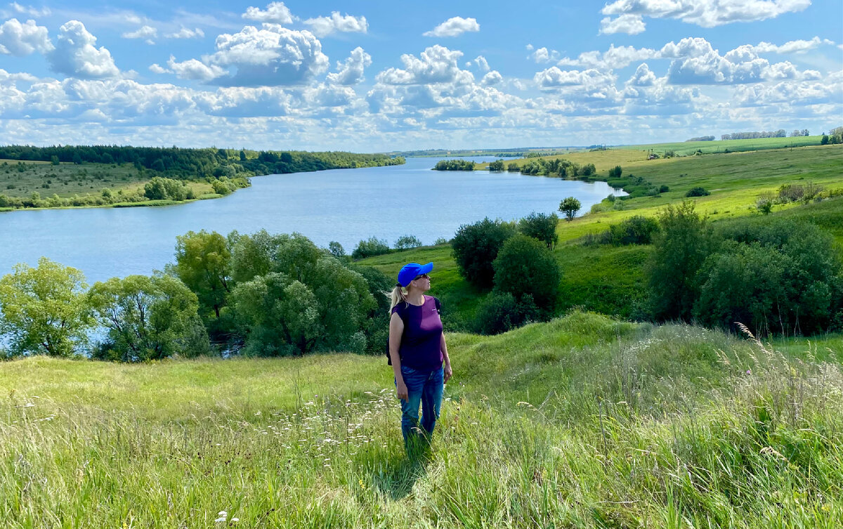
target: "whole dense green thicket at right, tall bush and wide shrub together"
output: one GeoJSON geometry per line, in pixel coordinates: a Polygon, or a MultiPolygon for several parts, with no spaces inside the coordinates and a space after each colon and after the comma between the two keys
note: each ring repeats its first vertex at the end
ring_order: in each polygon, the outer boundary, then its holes
{"type": "Polygon", "coordinates": [[[755,334],[813,334],[843,323],[843,267],[833,239],[767,217],[714,232],[690,203],[659,216],[646,275],[652,316],[755,334]]]}

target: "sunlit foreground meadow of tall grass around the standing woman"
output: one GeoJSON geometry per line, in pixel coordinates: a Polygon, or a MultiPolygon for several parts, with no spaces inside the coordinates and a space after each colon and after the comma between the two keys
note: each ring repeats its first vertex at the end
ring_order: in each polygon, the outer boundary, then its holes
{"type": "MultiPolygon", "coordinates": [[[[841,343],[816,345],[839,354],[841,343]]],[[[403,457],[381,357],[0,363],[0,519],[193,528],[226,510],[241,526],[784,528],[843,517],[843,377],[830,352],[833,363],[792,362],[703,329],[585,313],[449,345],[456,374],[418,463],[403,457]]]]}

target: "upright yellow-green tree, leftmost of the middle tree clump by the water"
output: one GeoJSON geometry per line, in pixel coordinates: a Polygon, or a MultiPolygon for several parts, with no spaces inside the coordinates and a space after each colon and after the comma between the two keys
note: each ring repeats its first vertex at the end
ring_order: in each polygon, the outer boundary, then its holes
{"type": "Polygon", "coordinates": [[[217,232],[187,232],[177,236],[172,272],[199,300],[200,315],[220,317],[226,296],[232,288],[231,250],[217,232]]]}

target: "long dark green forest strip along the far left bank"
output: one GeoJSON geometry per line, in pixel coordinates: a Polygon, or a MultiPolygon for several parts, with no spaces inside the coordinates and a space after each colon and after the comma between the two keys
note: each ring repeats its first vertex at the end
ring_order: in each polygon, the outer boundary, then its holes
{"type": "Polygon", "coordinates": [[[404,158],[353,152],[250,151],[180,147],[120,147],[109,145],[0,147],[0,158],[52,163],[132,163],[175,179],[251,174],[287,174],[324,169],[400,165],[404,158]]]}

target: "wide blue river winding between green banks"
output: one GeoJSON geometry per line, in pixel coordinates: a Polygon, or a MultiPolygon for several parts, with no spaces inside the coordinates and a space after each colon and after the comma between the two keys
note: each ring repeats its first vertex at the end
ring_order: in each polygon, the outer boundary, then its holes
{"type": "Polygon", "coordinates": [[[179,206],[2,212],[0,275],[16,263],[35,266],[41,256],[82,270],[91,283],[150,274],[173,261],[176,235],[201,229],[300,232],[319,246],[337,241],[348,254],[371,236],[391,245],[415,235],[432,244],[485,216],[512,220],[531,211],[550,213],[566,196],[577,197],[583,213],[611,193],[624,195],[604,182],[430,170],[439,159],[260,176],[225,198],[179,206]]]}

